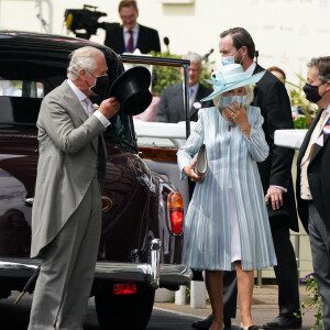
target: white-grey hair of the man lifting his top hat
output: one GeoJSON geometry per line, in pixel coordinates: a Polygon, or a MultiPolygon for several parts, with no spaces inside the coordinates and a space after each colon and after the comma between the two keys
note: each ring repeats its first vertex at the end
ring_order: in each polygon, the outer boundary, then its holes
{"type": "Polygon", "coordinates": [[[70,55],[70,63],[67,68],[67,77],[75,81],[78,79],[79,69],[84,68],[87,70],[87,75],[91,76],[90,72],[97,68],[96,57],[103,56],[105,54],[91,46],[86,46],[74,51],[70,55]]]}

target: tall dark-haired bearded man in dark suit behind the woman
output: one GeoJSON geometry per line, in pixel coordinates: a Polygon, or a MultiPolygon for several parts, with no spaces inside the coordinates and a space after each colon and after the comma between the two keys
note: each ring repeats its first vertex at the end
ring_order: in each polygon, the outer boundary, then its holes
{"type": "MultiPolygon", "coordinates": [[[[250,75],[264,70],[253,61],[255,54],[254,42],[250,33],[243,28],[229,29],[222,32],[220,34],[219,51],[222,65],[239,63],[243,66],[244,72],[250,75]]],[[[267,160],[257,163],[257,166],[268,206],[272,237],[277,257],[277,266],[274,267],[274,271],[278,285],[279,315],[262,328],[300,329],[301,319],[294,316],[294,312],[299,314],[300,306],[296,255],[289,240],[289,229],[299,230],[292,179],[294,151],[274,144],[275,130],[293,129],[290,101],[283,82],[273,74],[266,72],[256,84],[254,99],[251,105],[261,108],[264,118],[263,130],[270,145],[267,160]]],[[[237,305],[237,292],[232,289],[233,283],[237,282],[234,273],[224,272],[224,322],[228,322],[226,320],[229,317],[234,317],[234,315],[229,315],[226,311],[226,309],[235,309],[237,305]],[[227,276],[233,279],[229,280],[227,276]]],[[[209,316],[207,319],[194,324],[198,329],[208,329],[206,327],[211,318],[212,316],[209,316]]]]}

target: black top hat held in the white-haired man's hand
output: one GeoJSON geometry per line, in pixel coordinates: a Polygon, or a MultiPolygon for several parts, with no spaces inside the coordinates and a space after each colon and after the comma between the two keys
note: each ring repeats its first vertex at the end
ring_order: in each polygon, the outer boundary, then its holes
{"type": "Polygon", "coordinates": [[[148,90],[151,74],[143,66],[135,66],[120,75],[111,85],[109,97],[116,97],[120,108],[129,116],[143,112],[153,96],[148,90]]]}

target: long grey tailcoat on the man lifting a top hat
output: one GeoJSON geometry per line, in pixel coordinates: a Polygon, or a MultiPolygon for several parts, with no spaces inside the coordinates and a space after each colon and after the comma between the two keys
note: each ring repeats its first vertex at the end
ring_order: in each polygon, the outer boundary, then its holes
{"type": "Polygon", "coordinates": [[[97,117],[88,118],[66,81],[44,98],[36,124],[40,155],[32,210],[32,257],[75,212],[97,166],[99,179],[105,178],[107,158],[103,140],[99,139],[106,128],[97,117]]]}

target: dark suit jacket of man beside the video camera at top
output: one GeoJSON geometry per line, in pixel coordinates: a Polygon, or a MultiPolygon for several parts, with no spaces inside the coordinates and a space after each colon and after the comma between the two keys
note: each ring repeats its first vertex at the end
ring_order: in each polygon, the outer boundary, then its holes
{"type": "MultiPolygon", "coordinates": [[[[151,51],[161,52],[161,42],[158,32],[154,29],[140,25],[136,48],[142,54],[147,54],[151,51]]],[[[109,30],[106,35],[105,45],[113,50],[118,54],[125,52],[123,26],[118,26],[109,30]]]]}

